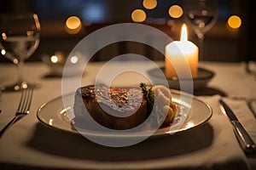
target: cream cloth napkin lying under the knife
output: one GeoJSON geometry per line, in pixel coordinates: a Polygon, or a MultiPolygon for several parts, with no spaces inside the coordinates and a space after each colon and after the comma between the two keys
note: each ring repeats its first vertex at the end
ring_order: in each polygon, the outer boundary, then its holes
{"type": "MultiPolygon", "coordinates": [[[[211,105],[213,115],[209,123],[214,126],[216,135],[216,149],[212,150],[212,153],[219,151],[219,155],[223,153],[223,156],[220,159],[220,165],[222,163],[226,164],[230,162],[230,167],[226,169],[255,169],[255,156],[246,156],[243,150],[236,139],[236,135],[233,132],[233,127],[231,126],[229,119],[219,109],[218,100],[221,97],[219,95],[206,97],[201,96],[199,99],[205,101],[207,104],[211,105]],[[219,126],[219,127],[216,127],[219,126]],[[218,147],[217,147],[218,146],[218,147]],[[221,151],[220,151],[221,150],[221,151]],[[225,151],[229,153],[225,153],[225,151]],[[225,160],[226,159],[226,160],[225,160]],[[227,161],[229,160],[229,161],[227,161]],[[223,162],[222,162],[223,161],[223,162]],[[241,162],[240,165],[237,165],[238,162],[241,162]],[[247,164],[247,165],[246,165],[247,164]],[[240,167],[241,166],[241,167],[240,167]],[[245,167],[243,167],[245,166],[245,167]]],[[[230,106],[232,111],[235,112],[238,120],[241,122],[242,126],[245,127],[247,133],[250,134],[253,141],[256,142],[256,120],[253,116],[253,113],[249,110],[246,101],[228,99],[224,98],[226,103],[230,106]]],[[[220,168],[223,169],[223,168],[220,168]]]]}

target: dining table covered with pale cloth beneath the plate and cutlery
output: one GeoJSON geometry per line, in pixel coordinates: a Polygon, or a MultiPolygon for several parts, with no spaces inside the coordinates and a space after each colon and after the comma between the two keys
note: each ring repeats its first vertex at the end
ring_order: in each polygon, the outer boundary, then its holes
{"type": "MultiPolygon", "coordinates": [[[[154,61],[163,66],[164,61],[154,61]]],[[[93,84],[106,61],[89,62],[81,78],[81,86],[93,84]]],[[[135,60],[115,65],[137,65],[135,60]]],[[[142,64],[143,65],[143,64],[142,64]]],[[[146,64],[145,64],[146,65],[146,64]]],[[[0,169],[211,169],[255,170],[256,152],[241,149],[234,129],[219,108],[219,99],[230,106],[239,122],[256,143],[256,116],[248,101],[256,98],[255,75],[246,71],[245,62],[204,61],[200,66],[214,76],[206,86],[196,89],[193,98],[209,105],[211,117],[199,126],[182,132],[148,138],[125,147],[96,144],[79,133],[67,132],[38,119],[39,108],[60,98],[61,76],[52,75],[44,62],[26,62],[22,76],[38,84],[34,88],[28,115],[0,138],[0,169]]],[[[75,77],[75,76],[74,76],[75,77]]],[[[72,79],[74,77],[65,77],[72,79]]],[[[0,64],[0,86],[15,82],[15,65],[0,64]]],[[[119,77],[120,86],[125,81],[119,77]]],[[[140,81],[136,76],[127,81],[140,81]]],[[[0,129],[14,116],[21,92],[2,92],[0,97],[0,129]]],[[[199,111],[200,112],[200,111],[199,111]]],[[[201,113],[204,114],[204,113],[201,113]]]]}

